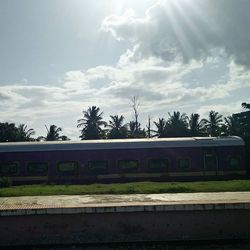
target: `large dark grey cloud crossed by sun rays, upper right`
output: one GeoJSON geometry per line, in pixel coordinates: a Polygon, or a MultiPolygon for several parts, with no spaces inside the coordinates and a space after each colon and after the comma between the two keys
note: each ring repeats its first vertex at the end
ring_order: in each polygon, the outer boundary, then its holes
{"type": "Polygon", "coordinates": [[[144,18],[134,13],[109,16],[103,29],[133,41],[132,60],[150,56],[183,62],[215,53],[250,67],[249,0],[168,0],[156,3],[144,18]]]}

